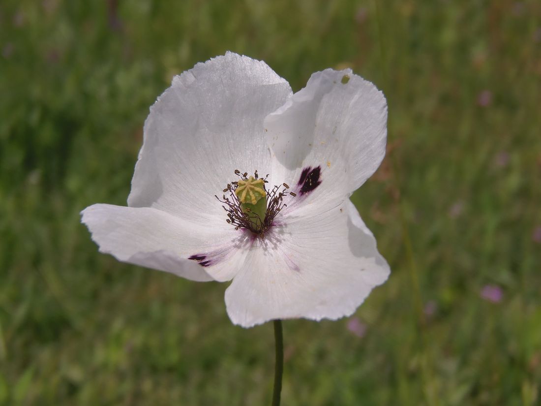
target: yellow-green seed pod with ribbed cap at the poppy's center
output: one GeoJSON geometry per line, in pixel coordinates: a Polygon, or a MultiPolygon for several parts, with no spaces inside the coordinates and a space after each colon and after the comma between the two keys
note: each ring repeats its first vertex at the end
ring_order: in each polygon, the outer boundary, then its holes
{"type": "Polygon", "coordinates": [[[242,212],[248,215],[253,227],[256,230],[262,229],[267,212],[267,192],[263,179],[250,176],[246,180],[239,180],[235,194],[242,212]]]}

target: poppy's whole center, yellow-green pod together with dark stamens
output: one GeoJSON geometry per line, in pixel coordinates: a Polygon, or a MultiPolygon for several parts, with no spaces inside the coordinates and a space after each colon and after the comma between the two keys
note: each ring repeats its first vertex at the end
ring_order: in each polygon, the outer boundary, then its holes
{"type": "Polygon", "coordinates": [[[267,190],[267,178],[259,178],[258,171],[248,178],[248,173],[241,174],[235,171],[239,180],[227,184],[223,189],[222,199],[215,196],[227,212],[227,222],[235,226],[235,230],[246,228],[254,234],[263,237],[271,228],[276,214],[280,213],[287,205],[283,198],[287,195],[296,196],[293,192],[287,192],[289,186],[281,184],[267,190]],[[226,196],[225,193],[229,193],[226,196]]]}

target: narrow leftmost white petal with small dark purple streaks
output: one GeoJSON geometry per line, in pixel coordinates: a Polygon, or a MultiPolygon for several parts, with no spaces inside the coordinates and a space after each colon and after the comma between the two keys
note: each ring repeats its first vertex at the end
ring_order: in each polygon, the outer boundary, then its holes
{"type": "Polygon", "coordinates": [[[197,281],[224,281],[245,260],[239,248],[246,236],[233,227],[217,231],[149,207],[96,204],[81,214],[100,252],[119,261],[197,281]]]}

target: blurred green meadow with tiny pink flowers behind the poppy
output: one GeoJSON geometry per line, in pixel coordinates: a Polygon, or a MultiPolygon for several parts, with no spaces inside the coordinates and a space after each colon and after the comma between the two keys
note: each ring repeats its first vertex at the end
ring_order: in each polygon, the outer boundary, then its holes
{"type": "Polygon", "coordinates": [[[232,50],[293,89],[352,67],[388,153],[354,195],[391,264],[351,318],[284,323],[284,405],[541,404],[541,3],[0,3],[0,404],[260,405],[272,324],[227,284],[98,254],[171,78],[232,50]]]}

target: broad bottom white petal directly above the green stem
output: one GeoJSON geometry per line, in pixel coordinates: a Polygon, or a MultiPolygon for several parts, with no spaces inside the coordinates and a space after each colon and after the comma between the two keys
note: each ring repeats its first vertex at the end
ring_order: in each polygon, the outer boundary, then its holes
{"type": "Polygon", "coordinates": [[[351,201],[326,215],[285,221],[264,243],[255,241],[228,287],[233,323],[349,316],[387,279],[389,266],[351,201]]]}

